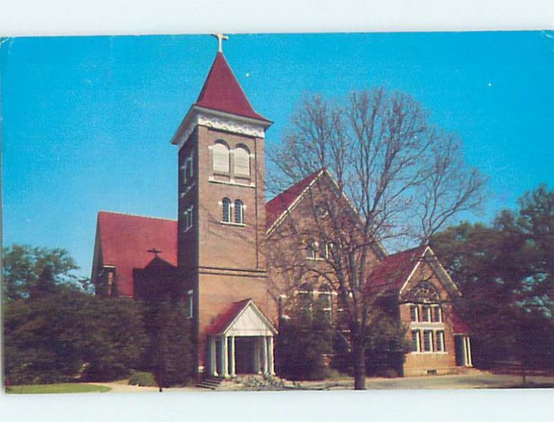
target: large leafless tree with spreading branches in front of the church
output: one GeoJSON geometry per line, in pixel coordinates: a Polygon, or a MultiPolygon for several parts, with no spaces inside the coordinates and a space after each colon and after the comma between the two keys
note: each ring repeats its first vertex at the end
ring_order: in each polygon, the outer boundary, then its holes
{"type": "Polygon", "coordinates": [[[334,288],[348,327],[355,388],[364,389],[364,341],[375,301],[368,285],[372,260],[386,254],[382,242],[425,244],[479,204],[483,178],[463,163],[459,138],[431,125],[409,95],[384,89],[354,92],[343,102],[308,96],[269,159],[270,192],[323,175],[305,194],[303,215],[290,213],[278,234],[269,233],[287,239],[291,250],[317,239],[326,249],[323,262],[306,264],[298,259],[305,254],[271,250],[269,260],[289,291],[306,273],[334,288]]]}

